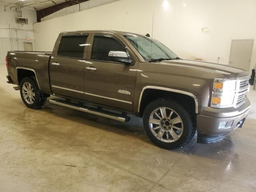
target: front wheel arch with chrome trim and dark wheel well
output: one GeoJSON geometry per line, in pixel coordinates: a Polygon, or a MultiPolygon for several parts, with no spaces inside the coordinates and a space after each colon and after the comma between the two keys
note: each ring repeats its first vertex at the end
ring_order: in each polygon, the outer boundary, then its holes
{"type": "Polygon", "coordinates": [[[193,106],[191,109],[192,112],[194,112],[194,114],[198,114],[198,99],[194,94],[190,92],[182,91],[182,90],[172,89],[172,88],[165,88],[165,87],[158,87],[158,86],[145,86],[140,93],[140,99],[138,103],[139,116],[143,116],[143,112],[146,106],[150,102],[164,96],[170,96],[176,99],[178,98],[178,100],[183,100],[187,98],[189,103],[193,102],[193,106]],[[156,93],[158,93],[159,95],[156,96],[156,93]]]}

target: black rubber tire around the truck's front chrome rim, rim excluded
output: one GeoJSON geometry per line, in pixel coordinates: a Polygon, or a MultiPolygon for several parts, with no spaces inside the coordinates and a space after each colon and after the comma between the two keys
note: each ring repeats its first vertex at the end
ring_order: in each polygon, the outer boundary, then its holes
{"type": "MultiPolygon", "coordinates": [[[[180,149],[184,147],[186,144],[188,144],[188,142],[190,142],[190,140],[194,137],[196,133],[196,128],[192,122],[188,110],[186,110],[186,108],[184,108],[181,104],[173,101],[171,98],[168,97],[158,98],[157,100],[154,100],[153,102],[148,104],[143,114],[143,125],[148,138],[150,138],[150,140],[157,146],[168,150],[180,149]],[[152,133],[149,120],[151,114],[158,108],[170,108],[174,110],[176,114],[178,114],[178,116],[180,116],[183,124],[183,131],[180,134],[178,140],[174,142],[164,142],[156,138],[156,136],[154,136],[154,134],[152,133]]],[[[161,127],[161,125],[159,126],[161,127]]]]}

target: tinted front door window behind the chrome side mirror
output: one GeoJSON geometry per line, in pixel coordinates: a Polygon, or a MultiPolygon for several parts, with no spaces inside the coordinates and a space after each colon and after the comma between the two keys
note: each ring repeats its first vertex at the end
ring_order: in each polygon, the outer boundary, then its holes
{"type": "Polygon", "coordinates": [[[110,51],[125,52],[126,50],[125,46],[114,38],[105,36],[94,36],[91,59],[100,61],[111,61],[108,58],[108,52],[110,51]]]}

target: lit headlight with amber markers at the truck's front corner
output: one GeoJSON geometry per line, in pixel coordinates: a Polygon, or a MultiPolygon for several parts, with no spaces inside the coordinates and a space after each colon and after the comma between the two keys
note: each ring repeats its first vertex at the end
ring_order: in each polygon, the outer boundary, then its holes
{"type": "Polygon", "coordinates": [[[226,108],[234,104],[237,80],[214,79],[211,107],[226,108]]]}

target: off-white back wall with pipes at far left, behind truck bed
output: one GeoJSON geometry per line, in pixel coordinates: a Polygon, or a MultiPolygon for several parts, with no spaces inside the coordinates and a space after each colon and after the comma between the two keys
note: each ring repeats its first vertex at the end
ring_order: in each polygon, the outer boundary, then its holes
{"type": "Polygon", "coordinates": [[[10,10],[8,6],[4,11],[4,5],[0,4],[0,64],[5,63],[7,51],[24,50],[23,42],[32,42],[34,45],[33,24],[36,22],[36,12],[23,9],[22,16],[28,18],[28,25],[16,24],[16,10],[10,10]],[[30,40],[26,40],[27,37],[30,40]]]}

